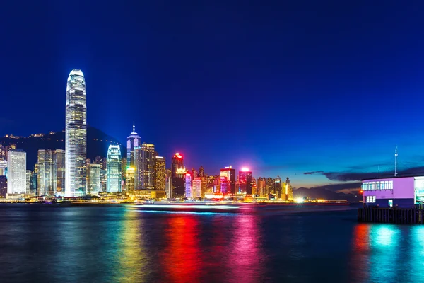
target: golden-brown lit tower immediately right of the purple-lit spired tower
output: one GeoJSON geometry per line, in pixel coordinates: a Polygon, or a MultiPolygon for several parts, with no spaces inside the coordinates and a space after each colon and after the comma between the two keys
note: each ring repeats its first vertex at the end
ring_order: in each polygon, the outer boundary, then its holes
{"type": "Polygon", "coordinates": [[[155,146],[141,144],[135,151],[136,190],[153,190],[155,187],[155,146]]]}

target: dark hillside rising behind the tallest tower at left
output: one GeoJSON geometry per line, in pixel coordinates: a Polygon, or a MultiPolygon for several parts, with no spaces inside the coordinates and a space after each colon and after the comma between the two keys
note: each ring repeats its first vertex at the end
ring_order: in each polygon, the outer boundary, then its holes
{"type": "MultiPolygon", "coordinates": [[[[0,144],[7,146],[16,144],[17,149],[22,149],[27,153],[27,168],[33,170],[37,163],[38,149],[65,149],[65,132],[54,132],[45,134],[44,137],[21,137],[14,139],[11,137],[1,137],[0,144]]],[[[119,143],[117,139],[96,129],[87,127],[87,158],[93,160],[95,156],[106,156],[107,148],[110,144],[121,146],[122,156],[126,156],[126,146],[119,143]]]]}

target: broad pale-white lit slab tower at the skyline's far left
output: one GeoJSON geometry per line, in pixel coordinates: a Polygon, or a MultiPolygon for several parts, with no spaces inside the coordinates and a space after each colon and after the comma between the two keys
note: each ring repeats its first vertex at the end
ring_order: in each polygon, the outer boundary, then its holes
{"type": "Polygon", "coordinates": [[[26,192],[26,152],[14,149],[7,152],[7,192],[25,194],[26,192]]]}

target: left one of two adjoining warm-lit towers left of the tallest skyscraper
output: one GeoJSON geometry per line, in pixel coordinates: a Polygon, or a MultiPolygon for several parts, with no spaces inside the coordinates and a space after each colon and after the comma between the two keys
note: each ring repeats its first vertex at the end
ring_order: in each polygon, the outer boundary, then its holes
{"type": "Polygon", "coordinates": [[[53,189],[53,151],[40,149],[38,151],[38,195],[54,195],[53,189]]]}

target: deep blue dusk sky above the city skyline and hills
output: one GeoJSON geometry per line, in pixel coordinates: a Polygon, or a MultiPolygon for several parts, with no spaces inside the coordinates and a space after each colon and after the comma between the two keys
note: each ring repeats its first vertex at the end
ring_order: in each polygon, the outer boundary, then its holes
{"type": "MultiPolygon", "coordinates": [[[[188,168],[294,187],[418,171],[424,2],[5,1],[0,135],[64,129],[66,79],[88,124],[188,168]],[[305,174],[307,173],[307,174],[305,174]]],[[[423,170],[422,170],[423,171],[423,170]]]]}

